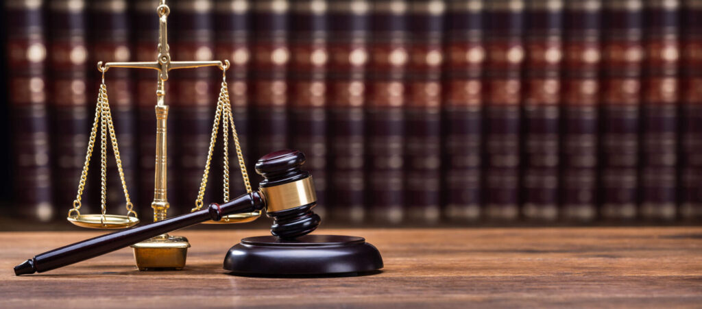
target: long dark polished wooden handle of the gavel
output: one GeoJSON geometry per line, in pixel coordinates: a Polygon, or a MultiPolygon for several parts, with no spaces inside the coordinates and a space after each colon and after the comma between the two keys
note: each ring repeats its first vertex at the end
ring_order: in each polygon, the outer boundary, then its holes
{"type": "Polygon", "coordinates": [[[223,216],[232,213],[246,213],[262,210],[263,208],[265,208],[265,202],[259,192],[241,195],[222,205],[210,204],[207,209],[157,221],[149,225],[120,230],[44,252],[15,266],[15,275],[27,275],[34,272],[53,270],[110,253],[166,232],[186,228],[208,220],[219,221],[223,216]]]}

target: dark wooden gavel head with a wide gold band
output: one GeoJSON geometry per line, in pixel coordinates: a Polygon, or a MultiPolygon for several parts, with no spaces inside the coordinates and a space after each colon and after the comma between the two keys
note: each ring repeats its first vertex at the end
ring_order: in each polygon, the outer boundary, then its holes
{"type": "Polygon", "coordinates": [[[256,173],[263,181],[260,192],[266,203],[266,214],[273,218],[271,233],[282,239],[307,235],[317,229],[321,219],[312,207],[317,205],[312,175],[300,166],[305,154],[298,150],[279,150],[258,159],[256,173]]]}

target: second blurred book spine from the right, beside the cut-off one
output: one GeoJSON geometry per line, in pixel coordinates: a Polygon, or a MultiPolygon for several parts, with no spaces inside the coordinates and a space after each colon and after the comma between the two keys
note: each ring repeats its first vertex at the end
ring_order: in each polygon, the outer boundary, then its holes
{"type": "Polygon", "coordinates": [[[646,219],[677,216],[679,8],[676,0],[644,6],[640,210],[646,219]]]}

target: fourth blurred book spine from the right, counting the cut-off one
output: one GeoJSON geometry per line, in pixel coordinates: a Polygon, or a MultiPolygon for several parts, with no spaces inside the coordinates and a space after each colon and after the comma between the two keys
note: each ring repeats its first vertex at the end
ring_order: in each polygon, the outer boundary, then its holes
{"type": "Polygon", "coordinates": [[[566,1],[562,68],[561,214],[597,216],[597,132],[602,1],[566,1]]]}

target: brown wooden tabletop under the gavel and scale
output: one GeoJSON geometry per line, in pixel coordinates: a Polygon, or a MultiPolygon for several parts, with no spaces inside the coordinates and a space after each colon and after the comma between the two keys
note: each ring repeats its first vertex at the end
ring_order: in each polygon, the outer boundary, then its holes
{"type": "MultiPolygon", "coordinates": [[[[95,232],[0,233],[0,308],[701,307],[702,228],[324,230],[375,244],[375,275],[235,277],[227,249],[265,230],[182,230],[181,271],[140,272],[131,249],[15,277],[13,266],[95,232]]],[[[318,232],[319,233],[319,232],[318,232]]]]}

